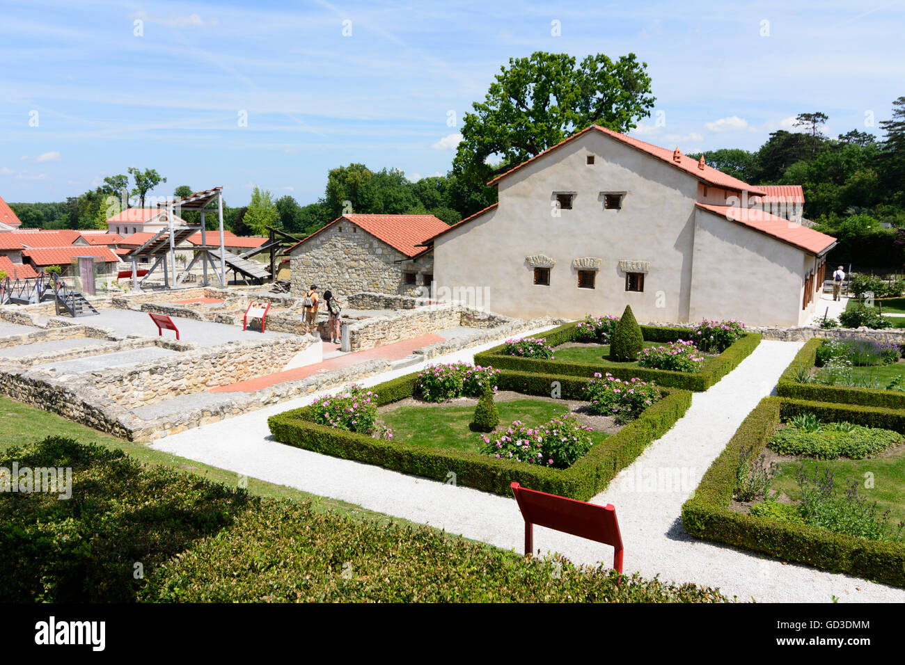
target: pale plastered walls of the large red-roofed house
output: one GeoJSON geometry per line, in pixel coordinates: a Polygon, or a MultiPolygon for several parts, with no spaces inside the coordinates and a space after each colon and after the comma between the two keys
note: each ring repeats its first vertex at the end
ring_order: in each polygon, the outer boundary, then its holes
{"type": "MultiPolygon", "coordinates": [[[[798,323],[804,252],[699,212],[697,178],[662,160],[588,132],[499,186],[496,209],[435,239],[438,287],[486,287],[488,309],[522,318],[618,315],[630,304],[640,321],[798,323]],[[554,216],[555,192],[576,192],[573,209],[554,216]],[[626,192],[622,209],[605,210],[602,192],[626,192]],[[712,220],[698,224],[701,214],[712,220]],[[696,225],[705,235],[697,250],[696,225]],[[549,286],[533,283],[526,261],[533,254],[556,261],[549,286]],[[577,287],[572,261],[580,257],[603,260],[594,290],[577,287]],[[623,259],[650,261],[643,293],[625,290],[623,259]],[[757,275],[768,289],[757,286],[757,275]]],[[[710,203],[725,204],[725,196],[708,188],[710,203]]]]}

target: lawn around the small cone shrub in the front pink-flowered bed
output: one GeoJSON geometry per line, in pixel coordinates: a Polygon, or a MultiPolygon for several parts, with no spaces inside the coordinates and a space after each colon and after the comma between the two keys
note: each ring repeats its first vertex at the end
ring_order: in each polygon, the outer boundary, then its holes
{"type": "MultiPolygon", "coordinates": [[[[547,423],[557,415],[567,413],[565,402],[549,402],[526,397],[497,402],[500,412],[499,428],[508,427],[513,421],[534,426],[547,423]]],[[[400,406],[394,411],[380,414],[380,419],[393,430],[393,441],[412,443],[435,450],[478,451],[479,432],[472,432],[469,423],[474,417],[474,406],[454,404],[400,406]]],[[[592,432],[595,443],[602,442],[605,432],[592,432]]]]}

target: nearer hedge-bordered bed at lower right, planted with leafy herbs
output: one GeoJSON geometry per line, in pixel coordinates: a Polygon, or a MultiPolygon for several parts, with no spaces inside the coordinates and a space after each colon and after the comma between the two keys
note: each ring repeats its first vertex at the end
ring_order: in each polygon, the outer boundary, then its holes
{"type": "MultiPolygon", "coordinates": [[[[862,460],[840,458],[834,461],[776,454],[767,449],[767,442],[780,423],[807,413],[823,423],[847,422],[905,435],[905,413],[900,411],[767,397],[741,423],[725,450],[710,465],[692,498],[682,507],[685,530],[695,537],[764,552],[834,573],[905,586],[905,544],[855,537],[806,523],[797,508],[802,493],[795,480],[799,462],[804,463],[806,477],[810,479],[805,487],[813,488],[815,480],[820,480],[815,478],[815,467],[826,468],[838,474],[837,485],[842,484],[843,479],[858,480],[862,483],[859,491],[866,501],[877,501],[880,513],[894,504],[899,508],[891,515],[899,516],[905,499],[901,493],[905,485],[902,446],[891,446],[862,460]],[[761,501],[736,500],[739,461],[744,458],[757,464],[761,454],[768,455],[765,461],[775,461],[779,465],[774,479],[778,499],[775,503],[778,505],[761,508],[760,514],[751,514],[752,506],[761,501]],[[863,473],[866,472],[873,475],[865,477],[863,473]],[[863,483],[869,478],[875,489],[864,488],[863,483]]],[[[896,522],[899,519],[891,517],[896,522]]]]}

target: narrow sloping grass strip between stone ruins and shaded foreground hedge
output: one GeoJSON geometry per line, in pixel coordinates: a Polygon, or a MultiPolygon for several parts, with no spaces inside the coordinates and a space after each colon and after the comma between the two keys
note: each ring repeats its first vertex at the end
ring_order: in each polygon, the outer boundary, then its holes
{"type": "MultiPolygon", "coordinates": [[[[90,429],[90,427],[72,423],[56,413],[42,411],[28,404],[16,402],[5,395],[0,395],[0,451],[5,451],[14,445],[39,442],[48,436],[67,436],[80,443],[98,443],[111,450],[119,448],[146,464],[166,466],[177,471],[195,473],[195,475],[201,476],[206,480],[222,482],[232,487],[235,487],[239,481],[239,476],[233,471],[217,469],[201,462],[171,455],[168,452],[157,451],[148,448],[143,443],[130,442],[109,434],[102,434],[90,429]]],[[[385,521],[389,519],[382,513],[372,512],[354,504],[336,499],[322,498],[309,492],[303,492],[300,489],[284,485],[273,485],[254,478],[248,479],[248,491],[252,494],[273,499],[311,501],[317,509],[330,508],[350,517],[367,515],[370,518],[385,521]]],[[[397,519],[396,521],[400,520],[397,519]]]]}

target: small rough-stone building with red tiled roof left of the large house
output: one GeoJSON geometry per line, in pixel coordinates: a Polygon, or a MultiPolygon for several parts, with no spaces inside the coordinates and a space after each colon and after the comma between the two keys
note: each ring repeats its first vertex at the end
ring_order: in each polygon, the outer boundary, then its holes
{"type": "Polygon", "coordinates": [[[311,284],[338,297],[357,291],[407,296],[429,293],[433,251],[422,243],[449,228],[433,214],[346,214],[286,254],[292,293],[311,284]]]}

